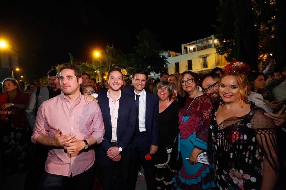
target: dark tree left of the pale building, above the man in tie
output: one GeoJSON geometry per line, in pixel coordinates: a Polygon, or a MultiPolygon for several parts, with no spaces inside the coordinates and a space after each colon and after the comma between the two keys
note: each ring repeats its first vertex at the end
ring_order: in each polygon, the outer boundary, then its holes
{"type": "Polygon", "coordinates": [[[139,42],[138,46],[134,47],[136,53],[123,56],[123,68],[129,74],[137,68],[144,68],[147,72],[154,73],[165,71],[168,62],[161,54],[162,48],[156,36],[148,29],[144,29],[136,37],[139,42]]]}

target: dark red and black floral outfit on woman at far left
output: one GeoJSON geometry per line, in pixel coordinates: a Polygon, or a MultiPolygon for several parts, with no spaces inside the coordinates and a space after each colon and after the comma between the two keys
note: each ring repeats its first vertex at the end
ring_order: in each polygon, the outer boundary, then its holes
{"type": "MultiPolygon", "coordinates": [[[[28,93],[17,92],[13,103],[27,105],[29,97],[28,93]]],[[[0,105],[4,103],[11,102],[7,94],[0,94],[0,105]]],[[[9,107],[8,111],[13,109],[18,108],[9,107]]],[[[26,170],[29,164],[28,143],[31,138],[31,131],[28,128],[25,109],[18,109],[15,113],[1,115],[0,137],[4,174],[13,173],[17,170],[26,170]]]]}

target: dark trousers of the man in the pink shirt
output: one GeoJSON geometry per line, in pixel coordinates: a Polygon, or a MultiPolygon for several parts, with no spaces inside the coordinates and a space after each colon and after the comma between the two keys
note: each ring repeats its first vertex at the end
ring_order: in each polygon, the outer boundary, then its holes
{"type": "Polygon", "coordinates": [[[37,189],[61,190],[68,186],[68,189],[90,190],[94,179],[93,174],[93,167],[75,176],[55,175],[44,171],[37,189]]]}

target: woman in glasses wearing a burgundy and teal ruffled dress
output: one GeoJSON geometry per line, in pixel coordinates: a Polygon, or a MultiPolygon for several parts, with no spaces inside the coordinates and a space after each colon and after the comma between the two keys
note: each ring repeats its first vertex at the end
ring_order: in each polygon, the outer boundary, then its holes
{"type": "Polygon", "coordinates": [[[177,93],[186,96],[184,107],[179,109],[179,146],[182,168],[173,178],[173,189],[210,189],[215,187],[208,164],[197,162],[198,155],[207,149],[210,98],[203,94],[200,74],[183,72],[178,80],[177,93]],[[187,160],[188,159],[188,160],[187,160]]]}

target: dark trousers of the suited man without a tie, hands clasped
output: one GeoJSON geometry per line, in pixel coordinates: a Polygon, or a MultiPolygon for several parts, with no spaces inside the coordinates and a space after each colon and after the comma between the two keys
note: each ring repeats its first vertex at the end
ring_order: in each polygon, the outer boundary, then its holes
{"type": "Polygon", "coordinates": [[[130,162],[130,151],[121,152],[120,161],[113,161],[106,154],[96,156],[96,177],[102,177],[102,189],[127,189],[128,166],[130,162]],[[114,180],[114,172],[116,179],[114,180]]]}

